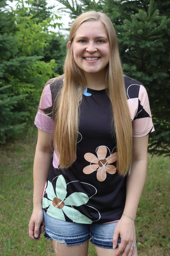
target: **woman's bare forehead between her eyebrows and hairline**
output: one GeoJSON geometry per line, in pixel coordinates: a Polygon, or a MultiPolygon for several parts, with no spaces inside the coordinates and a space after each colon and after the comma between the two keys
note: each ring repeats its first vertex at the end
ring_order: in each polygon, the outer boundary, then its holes
{"type": "Polygon", "coordinates": [[[108,38],[106,28],[101,21],[85,21],[76,30],[75,36],[105,36],[108,38]]]}

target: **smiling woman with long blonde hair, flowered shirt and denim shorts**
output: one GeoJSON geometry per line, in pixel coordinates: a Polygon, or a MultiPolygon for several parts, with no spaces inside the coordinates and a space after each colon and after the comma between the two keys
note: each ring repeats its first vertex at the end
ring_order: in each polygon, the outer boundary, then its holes
{"type": "Polygon", "coordinates": [[[29,236],[42,223],[55,255],[87,256],[91,238],[98,256],[136,256],[135,217],[154,131],[147,93],[123,76],[105,14],[80,15],[67,46],[64,75],[46,84],[35,119],[29,236]]]}

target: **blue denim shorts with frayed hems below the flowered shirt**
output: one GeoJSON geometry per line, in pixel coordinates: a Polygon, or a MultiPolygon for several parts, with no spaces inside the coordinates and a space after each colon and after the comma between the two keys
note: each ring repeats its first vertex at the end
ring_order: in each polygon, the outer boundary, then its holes
{"type": "MultiPolygon", "coordinates": [[[[113,233],[117,222],[107,224],[80,224],[57,220],[44,212],[45,234],[44,237],[66,245],[83,244],[91,241],[92,244],[112,249],[113,233]]],[[[119,247],[121,238],[118,239],[119,247]]]]}

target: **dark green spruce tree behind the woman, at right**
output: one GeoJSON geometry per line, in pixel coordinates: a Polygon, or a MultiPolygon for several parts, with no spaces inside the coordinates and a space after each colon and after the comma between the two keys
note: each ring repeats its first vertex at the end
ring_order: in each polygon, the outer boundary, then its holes
{"type": "Polygon", "coordinates": [[[155,126],[149,151],[170,155],[170,19],[155,9],[151,0],[143,9],[130,16],[121,26],[119,43],[125,52],[122,62],[125,74],[141,81],[148,92],[155,126]]]}

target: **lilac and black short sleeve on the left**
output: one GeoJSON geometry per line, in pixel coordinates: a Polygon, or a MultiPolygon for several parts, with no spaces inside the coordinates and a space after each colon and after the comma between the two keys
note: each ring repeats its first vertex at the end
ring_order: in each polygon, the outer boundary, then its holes
{"type": "Polygon", "coordinates": [[[42,92],[39,109],[34,121],[37,128],[43,132],[54,132],[55,121],[52,119],[52,111],[51,89],[50,84],[47,84],[42,92]]]}

